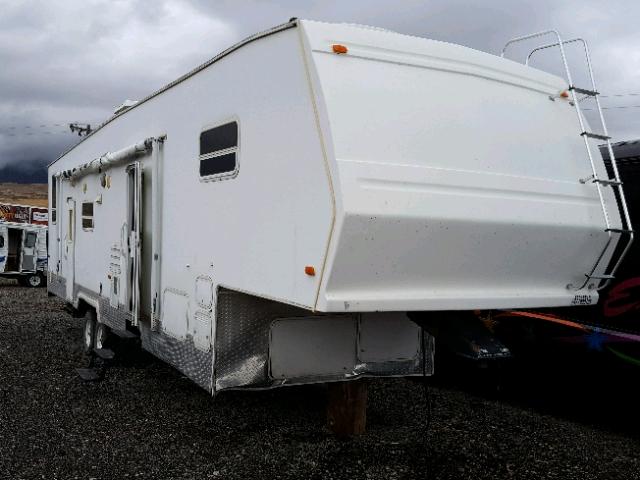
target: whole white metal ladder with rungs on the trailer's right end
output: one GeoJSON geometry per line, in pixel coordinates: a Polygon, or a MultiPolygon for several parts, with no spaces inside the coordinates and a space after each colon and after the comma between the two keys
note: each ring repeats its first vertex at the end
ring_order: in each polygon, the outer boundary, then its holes
{"type": "Polygon", "coordinates": [[[541,45],[529,52],[527,58],[525,60],[525,65],[529,65],[529,60],[532,55],[540,50],[544,50],[547,48],[559,47],[560,55],[562,57],[562,63],[565,69],[565,73],[567,76],[567,81],[569,83],[569,91],[571,92],[571,100],[573,106],[576,109],[576,113],[578,115],[578,121],[580,122],[580,135],[584,139],[585,147],[587,148],[587,154],[589,156],[589,161],[591,163],[592,174],[587,178],[580,179],[580,183],[593,183],[598,189],[598,196],[600,198],[600,205],[602,206],[602,214],[604,215],[605,220],[605,232],[608,235],[607,242],[604,245],[604,248],[598,255],[595,264],[589,270],[589,272],[585,273],[585,281],[582,285],[578,287],[574,287],[576,290],[583,289],[589,286],[590,289],[596,288],[598,290],[605,288],[611,280],[615,278],[615,273],[618,270],[618,267],[622,263],[622,260],[627,255],[631,244],[633,243],[634,232],[631,227],[631,218],[629,216],[629,209],[627,208],[627,201],[624,195],[624,191],[622,189],[622,181],[620,180],[620,175],[618,173],[618,165],[616,163],[615,156],[613,154],[613,148],[611,147],[611,137],[607,132],[607,125],[604,120],[604,115],[602,113],[602,107],[600,106],[600,100],[598,99],[598,91],[596,89],[596,82],[593,76],[593,69],[591,67],[591,56],[589,55],[589,47],[587,46],[587,42],[582,38],[573,38],[571,40],[562,40],[560,34],[556,30],[546,30],[544,32],[532,33],[530,35],[524,35],[522,37],[516,37],[509,40],[504,47],[502,48],[501,56],[505,56],[505,52],[510,45],[513,45],[517,42],[522,42],[524,40],[530,40],[537,37],[549,36],[553,35],[556,38],[555,43],[549,43],[546,45],[541,45]],[[584,48],[584,55],[587,62],[587,68],[589,73],[589,79],[591,81],[591,89],[579,88],[573,84],[573,79],[571,77],[571,71],[569,69],[569,64],[567,62],[567,57],[565,53],[565,45],[568,43],[578,42],[581,43],[584,48]],[[602,133],[595,133],[587,131],[585,126],[585,120],[580,109],[580,99],[578,99],[578,95],[585,95],[586,97],[593,97],[596,105],[598,107],[598,114],[600,116],[600,123],[602,126],[602,133]],[[604,140],[607,144],[607,150],[609,152],[609,158],[611,159],[611,170],[613,172],[613,178],[599,178],[598,173],[596,171],[596,164],[593,158],[593,152],[591,151],[591,146],[589,144],[589,139],[596,140],[604,140]],[[607,206],[604,200],[603,189],[604,188],[612,188],[614,189],[614,195],[617,198],[617,201],[620,205],[620,218],[622,220],[621,228],[614,228],[611,225],[611,218],[609,217],[609,213],[607,212],[607,206]],[[618,243],[613,242],[614,235],[617,235],[618,238],[625,236],[627,238],[626,244],[622,250],[619,250],[618,243]],[[602,267],[603,261],[608,257],[609,249],[613,247],[613,251],[611,252],[611,260],[608,262],[608,265],[604,265],[602,267]],[[618,257],[615,258],[616,252],[619,252],[618,257]],[[601,272],[601,273],[598,273],[601,272]],[[592,280],[595,280],[595,283],[590,283],[592,280]]]}

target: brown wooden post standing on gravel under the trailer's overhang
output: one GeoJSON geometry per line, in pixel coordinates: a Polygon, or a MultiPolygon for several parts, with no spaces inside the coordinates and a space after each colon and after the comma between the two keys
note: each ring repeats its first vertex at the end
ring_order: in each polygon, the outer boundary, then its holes
{"type": "Polygon", "coordinates": [[[366,380],[329,384],[327,425],[340,437],[364,433],[367,425],[366,380]]]}

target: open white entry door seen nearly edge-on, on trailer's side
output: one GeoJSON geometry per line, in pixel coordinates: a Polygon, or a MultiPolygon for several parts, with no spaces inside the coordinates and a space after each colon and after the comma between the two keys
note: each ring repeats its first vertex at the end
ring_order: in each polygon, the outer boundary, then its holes
{"type": "Polygon", "coordinates": [[[135,162],[127,168],[127,224],[129,225],[126,299],[131,312],[131,323],[138,325],[140,316],[140,275],[142,270],[142,168],[135,162]]]}

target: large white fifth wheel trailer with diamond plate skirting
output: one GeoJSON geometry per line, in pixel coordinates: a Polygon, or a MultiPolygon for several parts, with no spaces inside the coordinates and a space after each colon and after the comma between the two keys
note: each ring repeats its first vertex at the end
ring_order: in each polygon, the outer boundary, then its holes
{"type": "Polygon", "coordinates": [[[430,374],[412,319],[593,304],[613,275],[630,223],[578,94],[596,92],[293,19],[49,166],[49,291],[87,349],[139,335],[212,393],[430,374]]]}

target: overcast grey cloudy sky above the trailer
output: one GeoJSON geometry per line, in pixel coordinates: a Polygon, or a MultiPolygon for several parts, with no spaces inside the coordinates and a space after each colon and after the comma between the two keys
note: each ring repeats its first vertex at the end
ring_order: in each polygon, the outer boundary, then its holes
{"type": "MultiPolygon", "coordinates": [[[[640,105],[640,96],[628,95],[640,93],[637,1],[0,0],[0,168],[55,159],[77,141],[69,122],[100,123],[125,99],[292,16],[492,53],[510,37],[556,28],[590,43],[603,95],[625,95],[603,105],[640,105]]],[[[640,108],[605,113],[614,140],[640,137],[640,108]]]]}

